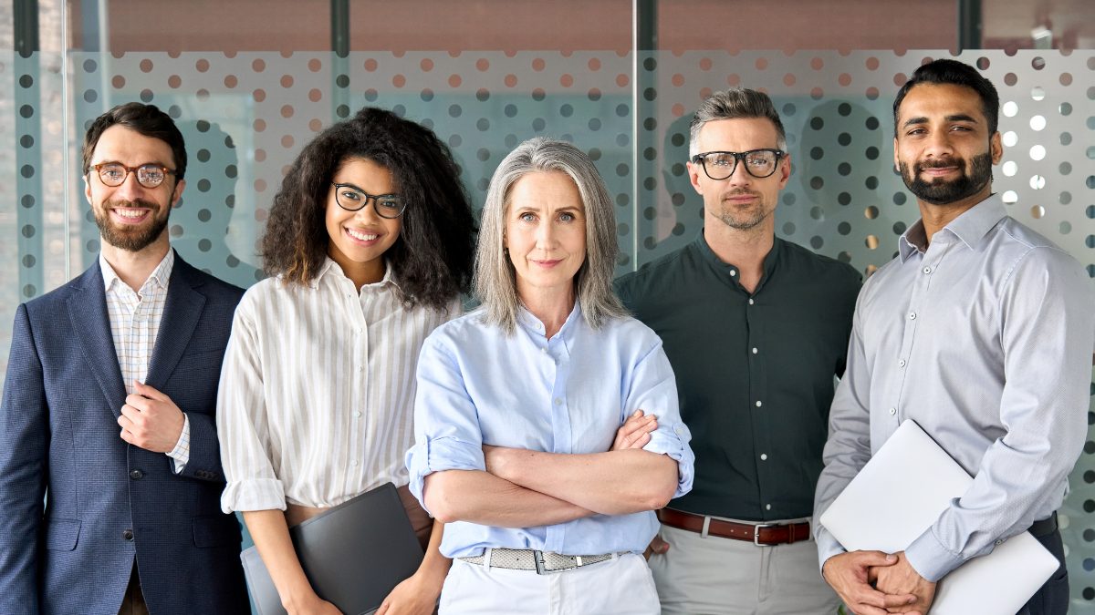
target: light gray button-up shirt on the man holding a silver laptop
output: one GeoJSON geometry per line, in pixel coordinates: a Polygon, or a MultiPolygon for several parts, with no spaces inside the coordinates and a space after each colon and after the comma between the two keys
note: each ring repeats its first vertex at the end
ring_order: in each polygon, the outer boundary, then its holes
{"type": "MultiPolygon", "coordinates": [[[[918,221],[860,293],[815,518],[907,418],[976,477],[906,549],[921,576],[936,581],[1049,517],[1087,433],[1093,338],[1091,278],[1000,196],[930,245],[918,221]]],[[[816,534],[822,565],[843,550],[816,534]]]]}

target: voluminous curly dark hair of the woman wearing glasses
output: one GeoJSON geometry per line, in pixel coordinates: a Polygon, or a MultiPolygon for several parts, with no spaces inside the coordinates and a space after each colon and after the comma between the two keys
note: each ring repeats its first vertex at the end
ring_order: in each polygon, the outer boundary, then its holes
{"type": "Polygon", "coordinates": [[[376,107],[321,132],[292,163],[266,221],[266,272],[296,283],[319,275],[331,241],[324,222],[331,182],[350,159],[388,169],[407,204],[400,236],[384,253],[407,305],[440,310],[466,292],[475,221],[452,153],[433,130],[376,107]]]}

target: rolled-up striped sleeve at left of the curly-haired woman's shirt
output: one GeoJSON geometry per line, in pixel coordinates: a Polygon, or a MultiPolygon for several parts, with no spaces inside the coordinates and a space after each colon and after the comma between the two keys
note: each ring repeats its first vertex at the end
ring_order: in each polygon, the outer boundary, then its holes
{"type": "Polygon", "coordinates": [[[226,513],[286,508],[285,488],[269,457],[258,336],[246,299],[232,322],[217,392],[217,433],[228,481],[220,508],[226,513]]]}

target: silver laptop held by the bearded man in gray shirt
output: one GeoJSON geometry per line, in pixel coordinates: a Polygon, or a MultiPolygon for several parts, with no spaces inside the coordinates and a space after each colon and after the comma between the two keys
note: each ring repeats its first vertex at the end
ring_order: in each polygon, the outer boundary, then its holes
{"type": "MultiPolygon", "coordinates": [[[[848,550],[904,550],[973,479],[906,420],[821,515],[848,550]]],[[[1029,532],[970,559],[936,588],[932,615],[1014,615],[1059,562],[1029,532]]]]}

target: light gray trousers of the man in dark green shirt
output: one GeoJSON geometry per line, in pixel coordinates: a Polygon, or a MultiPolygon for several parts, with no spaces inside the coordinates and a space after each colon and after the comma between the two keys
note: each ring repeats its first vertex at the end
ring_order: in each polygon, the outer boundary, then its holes
{"type": "Polygon", "coordinates": [[[668,525],[660,535],[669,550],[648,564],[665,615],[832,615],[840,606],[814,541],[759,547],[668,525]]]}

